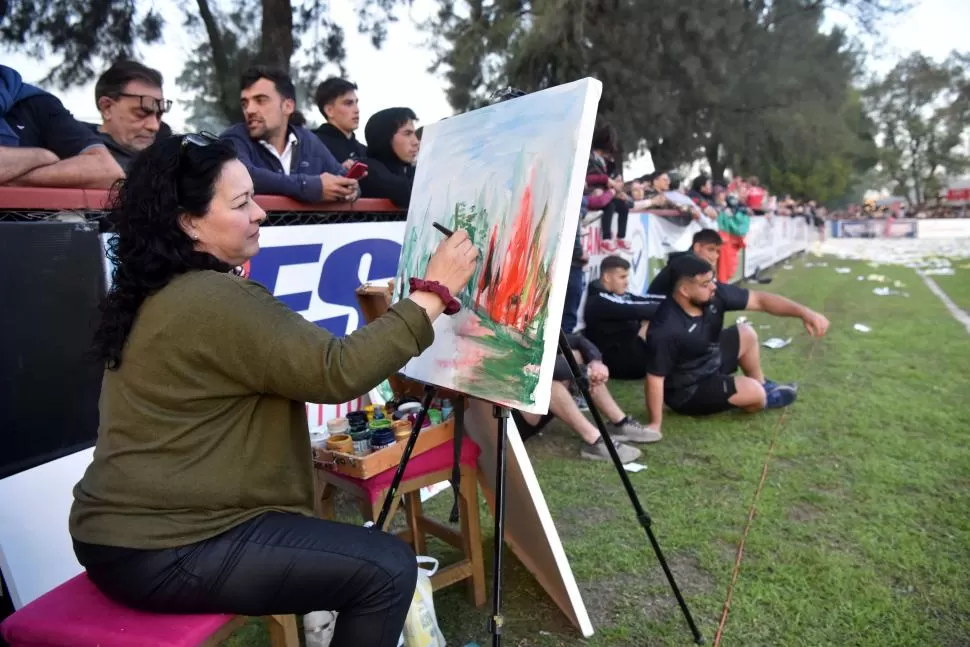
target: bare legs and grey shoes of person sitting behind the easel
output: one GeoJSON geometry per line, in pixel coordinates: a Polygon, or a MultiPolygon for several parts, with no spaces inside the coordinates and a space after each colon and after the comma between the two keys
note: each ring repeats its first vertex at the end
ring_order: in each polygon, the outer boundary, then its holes
{"type": "MultiPolygon", "coordinates": [[[[617,453],[623,463],[629,463],[640,458],[641,451],[620,441],[634,443],[652,443],[660,440],[660,434],[651,431],[639,422],[629,417],[616,403],[606,388],[610,378],[609,369],[603,364],[599,350],[582,335],[567,335],[569,345],[582,370],[589,376],[589,391],[595,405],[603,418],[607,421],[607,432],[614,441],[617,453]]],[[[579,455],[581,458],[594,461],[610,460],[609,448],[606,441],[589,419],[579,410],[576,400],[569,392],[569,385],[573,375],[569,364],[562,355],[556,357],[556,368],[553,372],[552,398],[549,402],[549,413],[540,416],[512,410],[512,418],[522,439],[526,440],[542,431],[554,418],[559,418],[571,429],[578,433],[585,441],[579,455]]]]}

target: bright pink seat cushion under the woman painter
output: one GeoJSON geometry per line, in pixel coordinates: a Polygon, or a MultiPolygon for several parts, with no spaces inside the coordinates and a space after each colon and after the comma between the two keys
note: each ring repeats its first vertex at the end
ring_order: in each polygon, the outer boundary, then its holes
{"type": "Polygon", "coordinates": [[[11,647],[197,647],[233,617],[135,611],[82,573],[4,620],[0,634],[11,647]]]}

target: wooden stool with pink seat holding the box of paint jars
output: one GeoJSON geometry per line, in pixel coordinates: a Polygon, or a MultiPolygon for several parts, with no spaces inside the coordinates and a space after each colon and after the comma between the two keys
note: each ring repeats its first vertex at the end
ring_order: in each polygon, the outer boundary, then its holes
{"type": "MultiPolygon", "coordinates": [[[[426,517],[421,509],[421,488],[451,478],[455,460],[454,447],[454,441],[449,440],[423,454],[411,457],[397,490],[400,496],[391,505],[384,529],[390,527],[403,496],[408,529],[398,536],[411,544],[415,553],[427,555],[426,538],[427,535],[433,535],[462,551],[464,556],[457,563],[439,569],[431,577],[432,588],[437,591],[467,579],[469,598],[475,606],[481,606],[485,604],[485,562],[482,558],[482,531],[478,517],[478,455],[481,450],[473,440],[466,436],[461,444],[461,485],[458,492],[460,532],[426,517]]],[[[316,466],[314,472],[319,493],[317,514],[324,519],[333,519],[334,492],[342,490],[360,502],[360,509],[366,520],[377,521],[396,471],[395,465],[369,479],[358,479],[316,466]]]]}

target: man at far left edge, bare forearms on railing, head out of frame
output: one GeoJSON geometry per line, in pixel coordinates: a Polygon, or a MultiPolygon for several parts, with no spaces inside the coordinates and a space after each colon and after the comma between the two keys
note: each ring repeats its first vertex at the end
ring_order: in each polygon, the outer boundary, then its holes
{"type": "Polygon", "coordinates": [[[60,99],[0,65],[0,184],[107,189],[124,176],[60,99]]]}

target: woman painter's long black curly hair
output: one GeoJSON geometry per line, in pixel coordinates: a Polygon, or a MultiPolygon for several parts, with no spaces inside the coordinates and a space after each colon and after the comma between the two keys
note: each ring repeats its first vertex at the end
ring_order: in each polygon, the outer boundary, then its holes
{"type": "Polygon", "coordinates": [[[179,226],[183,213],[205,215],[216,180],[233,159],[236,152],[228,142],[212,139],[198,145],[167,137],[138,155],[127,179],[113,188],[108,218],[117,235],[107,253],[115,265],[113,285],[94,337],[96,355],[107,368],[121,366],[125,341],[146,298],[190,270],[233,269],[195,251],[179,226]]]}

